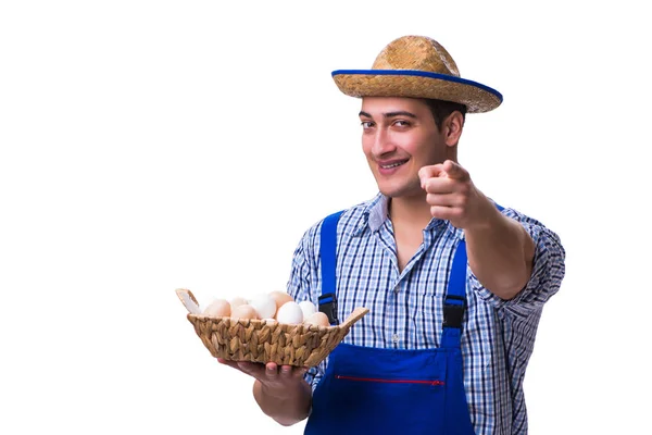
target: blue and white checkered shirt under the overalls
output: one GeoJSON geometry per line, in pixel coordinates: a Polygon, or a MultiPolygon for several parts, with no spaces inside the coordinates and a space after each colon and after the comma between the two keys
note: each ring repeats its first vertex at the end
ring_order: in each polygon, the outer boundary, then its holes
{"type": "MultiPolygon", "coordinates": [[[[442,296],[464,232],[432,219],[423,232],[423,245],[399,272],[387,203],[378,194],[344,211],[338,224],[339,318],[344,320],[356,307],[369,309],[344,343],[391,349],[439,347],[442,296]]],[[[559,290],[565,273],[565,251],[556,234],[513,209],[505,208],[502,213],[521,222],[535,240],[535,263],[527,286],[510,301],[482,287],[468,269],[462,355],[471,421],[477,434],[527,433],[525,369],[543,304],[559,290]]],[[[321,295],[321,224],[304,234],[294,252],[288,293],[297,301],[316,304],[321,295]]],[[[327,363],[328,359],[305,374],[313,391],[327,363]]]]}

